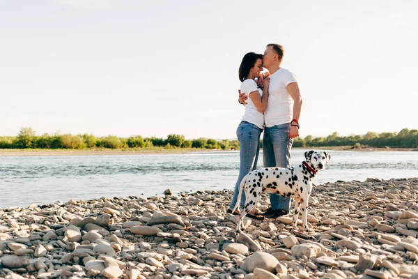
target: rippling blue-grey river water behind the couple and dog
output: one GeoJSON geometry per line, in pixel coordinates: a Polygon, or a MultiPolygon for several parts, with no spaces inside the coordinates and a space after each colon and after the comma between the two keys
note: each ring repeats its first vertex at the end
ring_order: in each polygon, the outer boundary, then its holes
{"type": "MultiPolygon", "coordinates": [[[[292,164],[304,149],[293,149],[292,164]]],[[[418,177],[417,151],[328,151],[327,169],[314,184],[418,177]]],[[[260,154],[258,167],[262,167],[260,154]]],[[[122,156],[0,157],[0,209],[69,199],[150,197],[167,188],[174,194],[196,190],[232,190],[238,178],[239,152],[122,156]]]]}

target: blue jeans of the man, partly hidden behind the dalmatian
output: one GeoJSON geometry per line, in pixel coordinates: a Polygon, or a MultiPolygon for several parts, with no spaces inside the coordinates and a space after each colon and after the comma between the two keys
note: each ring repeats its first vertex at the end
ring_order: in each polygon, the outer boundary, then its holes
{"type": "MultiPolygon", "coordinates": [[[[265,127],[263,135],[264,167],[290,167],[293,139],[289,139],[291,123],[265,127]]],[[[291,210],[291,198],[270,194],[272,209],[291,210]]]]}

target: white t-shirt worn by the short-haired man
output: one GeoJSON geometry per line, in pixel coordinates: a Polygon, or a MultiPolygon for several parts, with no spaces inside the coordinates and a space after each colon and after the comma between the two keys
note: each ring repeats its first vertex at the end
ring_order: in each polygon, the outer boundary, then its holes
{"type": "Polygon", "coordinates": [[[286,86],[297,82],[297,77],[284,68],[279,68],[270,75],[268,86],[268,105],[264,112],[265,127],[290,123],[293,119],[293,98],[286,86]]]}

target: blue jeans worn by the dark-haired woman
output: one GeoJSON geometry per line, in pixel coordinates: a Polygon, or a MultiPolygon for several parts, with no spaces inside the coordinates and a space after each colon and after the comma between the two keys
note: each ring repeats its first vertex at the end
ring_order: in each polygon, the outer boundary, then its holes
{"type": "MultiPolygon", "coordinates": [[[[263,130],[258,126],[247,121],[241,121],[237,128],[237,137],[240,142],[240,174],[229,209],[233,209],[237,204],[240,183],[244,176],[257,168],[258,153],[260,151],[260,135],[263,130]]],[[[240,206],[243,209],[245,204],[245,193],[242,191],[240,206]]]]}

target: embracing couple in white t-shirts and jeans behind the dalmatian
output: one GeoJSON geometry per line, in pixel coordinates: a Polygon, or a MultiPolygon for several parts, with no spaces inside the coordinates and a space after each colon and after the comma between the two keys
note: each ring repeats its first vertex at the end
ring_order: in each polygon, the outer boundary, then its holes
{"type": "MultiPolygon", "coordinates": [[[[256,169],[260,135],[263,134],[264,167],[290,167],[293,138],[299,136],[299,117],[302,107],[297,79],[291,71],[281,68],[284,48],[278,44],[268,44],[264,54],[249,52],[242,59],[238,75],[240,78],[240,100],[245,105],[245,113],[237,128],[240,142],[240,174],[228,213],[238,202],[242,178],[256,169]],[[262,74],[263,68],[268,73],[262,74]]],[[[245,204],[243,193],[240,208],[245,204]]],[[[247,217],[257,220],[277,218],[288,214],[290,197],[270,194],[270,208],[264,213],[257,209],[247,217]]]]}

